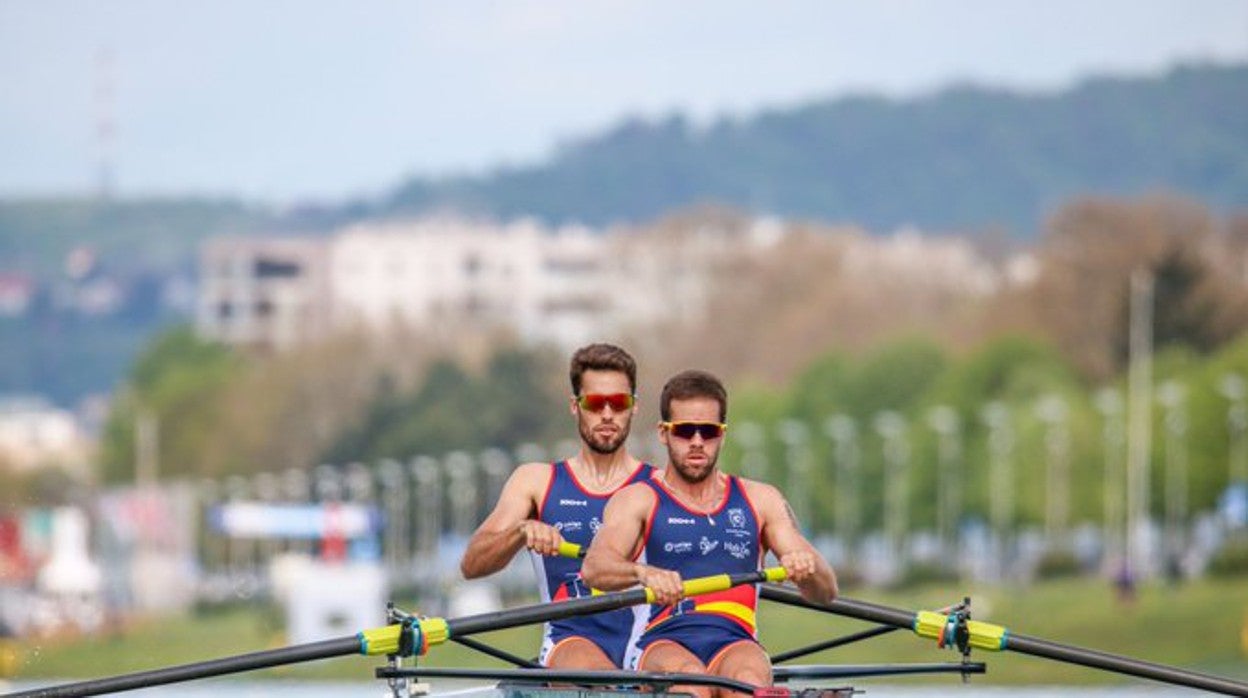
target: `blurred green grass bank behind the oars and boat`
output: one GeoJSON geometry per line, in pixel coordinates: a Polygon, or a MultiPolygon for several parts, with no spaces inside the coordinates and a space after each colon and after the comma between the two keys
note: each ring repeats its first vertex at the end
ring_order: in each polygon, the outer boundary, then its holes
{"type": "MultiPolygon", "coordinates": [[[[1133,603],[1116,599],[1101,579],[1063,579],[1020,588],[929,586],[881,592],[850,589],[847,597],[905,609],[935,609],[972,598],[972,616],[1013,633],[1174,664],[1231,678],[1248,679],[1248,583],[1244,579],[1201,581],[1178,587],[1148,584],[1133,603]]],[[[402,604],[401,604],[402,606],[402,604]]],[[[761,639],[782,652],[870,626],[850,618],[802,611],[764,601],[761,639]]],[[[282,647],[271,608],[236,607],[197,616],[151,619],[107,637],[27,642],[21,647],[16,678],[90,678],[197,662],[282,647]]],[[[513,628],[474,636],[522,657],[537,653],[539,628],[513,628]]],[[[812,654],[792,663],[899,663],[957,661],[935,643],[897,631],[859,644],[812,654]]],[[[975,683],[1108,684],[1131,681],[1107,672],[1016,653],[976,652],[988,673],[975,683]]],[[[346,657],[257,672],[248,678],[373,681],[382,662],[346,657]]],[[[500,662],[454,643],[431,651],[422,663],[436,667],[489,667],[500,662]]],[[[859,679],[856,683],[938,682],[956,677],[859,679]]]]}

